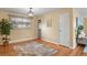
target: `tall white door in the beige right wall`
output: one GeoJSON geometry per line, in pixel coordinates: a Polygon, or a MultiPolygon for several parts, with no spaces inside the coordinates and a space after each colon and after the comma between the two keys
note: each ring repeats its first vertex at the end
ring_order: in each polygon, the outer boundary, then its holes
{"type": "Polygon", "coordinates": [[[59,15],[59,43],[65,46],[69,46],[69,14],[59,15]]]}

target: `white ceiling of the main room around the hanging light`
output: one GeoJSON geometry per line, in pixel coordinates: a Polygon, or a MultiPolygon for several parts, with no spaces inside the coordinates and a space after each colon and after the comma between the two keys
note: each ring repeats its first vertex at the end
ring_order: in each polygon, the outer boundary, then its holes
{"type": "MultiPolygon", "coordinates": [[[[33,8],[32,11],[34,12],[35,15],[47,13],[51,11],[54,11],[58,8],[33,8]]],[[[30,10],[29,8],[0,8],[2,11],[9,11],[9,12],[14,12],[14,13],[22,13],[22,14],[28,14],[28,11],[30,10]]]]}

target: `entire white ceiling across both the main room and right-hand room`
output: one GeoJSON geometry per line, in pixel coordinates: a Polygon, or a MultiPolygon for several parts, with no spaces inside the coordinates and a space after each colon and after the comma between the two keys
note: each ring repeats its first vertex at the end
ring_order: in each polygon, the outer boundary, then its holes
{"type": "MultiPolygon", "coordinates": [[[[32,11],[35,15],[44,14],[61,8],[33,8],[32,11]]],[[[29,8],[0,8],[2,11],[9,11],[13,13],[28,14],[29,8]]],[[[87,8],[76,8],[80,17],[87,18],[87,8]]]]}

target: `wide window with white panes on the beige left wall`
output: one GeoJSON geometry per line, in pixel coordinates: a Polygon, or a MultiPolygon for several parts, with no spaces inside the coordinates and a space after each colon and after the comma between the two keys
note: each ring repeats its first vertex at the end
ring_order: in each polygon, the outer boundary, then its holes
{"type": "Polygon", "coordinates": [[[30,20],[23,17],[10,15],[13,29],[28,29],[30,28],[30,20]]]}

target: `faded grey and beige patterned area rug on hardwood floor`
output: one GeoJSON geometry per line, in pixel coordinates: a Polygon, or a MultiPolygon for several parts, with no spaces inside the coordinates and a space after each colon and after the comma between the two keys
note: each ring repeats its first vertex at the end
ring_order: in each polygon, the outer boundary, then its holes
{"type": "Polygon", "coordinates": [[[51,46],[36,42],[15,45],[13,48],[18,52],[18,56],[52,56],[58,52],[51,46]]]}

